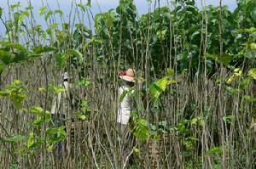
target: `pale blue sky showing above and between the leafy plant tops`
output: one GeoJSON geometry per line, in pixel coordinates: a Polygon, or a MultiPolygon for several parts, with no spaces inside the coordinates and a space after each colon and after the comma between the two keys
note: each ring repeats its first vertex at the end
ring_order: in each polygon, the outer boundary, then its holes
{"type": "MultiPolygon", "coordinates": [[[[7,2],[9,1],[9,4],[15,4],[20,2],[20,5],[22,7],[27,6],[28,0],[0,0],[0,7],[4,9],[4,11],[7,11],[7,2]]],[[[46,0],[43,0],[44,3],[46,0]]],[[[87,0],[76,0],[77,2],[87,3],[87,0]]],[[[141,14],[147,14],[148,9],[154,8],[154,2],[155,0],[151,0],[152,3],[148,3],[147,0],[134,0],[134,3],[137,7],[137,13],[139,15],[141,14]]],[[[167,6],[167,1],[170,2],[170,0],[160,0],[160,6],[167,6]]],[[[201,2],[205,2],[207,5],[212,4],[214,6],[218,6],[219,0],[195,0],[196,4],[199,8],[201,8],[201,2]]],[[[69,11],[71,9],[71,2],[72,0],[58,0],[60,4],[60,8],[62,11],[67,12],[67,15],[69,14],[69,11]]],[[[39,17],[38,15],[38,9],[42,7],[42,0],[31,0],[32,7],[35,11],[35,18],[38,21],[39,24],[45,26],[43,17],[39,17]]],[[[56,0],[48,0],[49,7],[52,10],[58,9],[58,5],[56,3],[56,0]]],[[[236,0],[222,0],[223,5],[229,6],[230,10],[233,11],[236,8],[236,0]]],[[[91,12],[92,14],[98,14],[101,12],[107,12],[110,8],[116,8],[119,4],[119,0],[91,0],[91,12]]],[[[3,14],[3,17],[6,17],[6,13],[3,14]]],[[[85,21],[86,23],[86,21],[85,21]]],[[[0,22],[0,36],[4,33],[4,26],[3,23],[0,22]]]]}

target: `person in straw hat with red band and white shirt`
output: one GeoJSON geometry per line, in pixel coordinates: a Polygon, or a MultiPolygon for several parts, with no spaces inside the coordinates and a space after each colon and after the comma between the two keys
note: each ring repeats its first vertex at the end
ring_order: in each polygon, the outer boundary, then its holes
{"type": "MultiPolygon", "coordinates": [[[[135,70],[128,69],[119,73],[119,78],[122,79],[122,85],[119,87],[119,107],[117,113],[117,123],[119,131],[119,148],[121,153],[120,163],[125,164],[129,153],[133,149],[134,139],[132,138],[131,131],[129,130],[129,121],[131,118],[131,109],[133,99],[131,93],[134,93],[135,70]]],[[[131,158],[129,163],[131,163],[131,158]]]]}

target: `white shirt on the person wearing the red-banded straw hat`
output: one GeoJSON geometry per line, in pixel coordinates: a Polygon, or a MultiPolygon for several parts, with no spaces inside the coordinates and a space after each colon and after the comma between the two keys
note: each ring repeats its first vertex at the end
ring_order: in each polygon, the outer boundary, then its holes
{"type": "MultiPolygon", "coordinates": [[[[129,89],[130,87],[127,85],[119,87],[119,98],[124,91],[127,91],[129,89]]],[[[125,94],[124,99],[119,103],[117,122],[123,125],[127,125],[130,119],[130,116],[131,116],[131,97],[129,96],[129,94],[125,94]]]]}

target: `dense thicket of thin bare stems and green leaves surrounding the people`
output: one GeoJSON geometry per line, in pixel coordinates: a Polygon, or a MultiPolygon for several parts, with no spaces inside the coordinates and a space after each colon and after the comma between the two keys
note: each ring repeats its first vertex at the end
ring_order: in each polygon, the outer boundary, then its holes
{"type": "MultiPolygon", "coordinates": [[[[150,9],[148,14],[138,16],[131,0],[121,0],[123,6],[117,9],[117,13],[110,11],[94,16],[90,5],[86,6],[82,1],[73,0],[70,11],[63,13],[59,5],[53,9],[51,2],[42,0],[45,8],[44,12],[41,8],[40,13],[45,19],[46,29],[38,25],[35,17],[38,11],[32,8],[26,8],[24,20],[15,22],[23,7],[15,8],[9,0],[7,2],[9,8],[3,10],[1,20],[8,36],[2,37],[1,41],[20,43],[28,50],[42,45],[54,47],[56,51],[8,65],[0,74],[0,90],[15,79],[26,87],[26,99],[20,109],[15,109],[10,99],[0,99],[0,168],[256,167],[256,86],[255,79],[247,76],[248,70],[256,67],[255,53],[251,51],[253,59],[235,57],[229,65],[219,61],[228,57],[230,51],[234,52],[230,55],[235,56],[247,54],[236,51],[244,51],[244,43],[238,44],[237,37],[228,40],[225,37],[230,36],[230,30],[227,33],[225,26],[231,14],[222,6],[221,0],[215,9],[193,9],[196,18],[186,12],[181,17],[180,10],[189,11],[195,7],[183,1],[168,1],[167,8],[160,8],[158,0],[152,2],[153,11],[150,9]],[[126,14],[126,8],[134,11],[126,14]],[[212,19],[213,15],[218,20],[212,19]],[[170,17],[170,20],[165,17],[170,17]],[[198,32],[189,33],[188,22],[191,22],[191,27],[195,23],[198,32]],[[216,25],[212,26],[213,22],[216,25]],[[93,26],[95,23],[97,25],[93,26]],[[104,25],[106,23],[108,25],[104,25]],[[212,43],[216,43],[214,48],[212,43]],[[82,61],[78,64],[67,59],[67,63],[60,67],[56,55],[62,54],[64,63],[70,49],[78,51],[73,55],[81,54],[82,61]],[[187,54],[186,62],[183,62],[183,54],[187,54]],[[207,58],[209,54],[218,55],[218,59],[207,58]],[[144,102],[141,96],[137,96],[137,115],[148,121],[148,127],[154,125],[159,129],[158,124],[164,121],[166,126],[162,129],[165,132],[155,134],[151,128],[150,133],[154,133],[151,138],[146,142],[136,140],[134,148],[139,152],[131,149],[125,163],[120,163],[122,153],[115,121],[119,104],[117,75],[119,70],[129,67],[135,68],[137,75],[143,77],[144,88],[166,76],[168,69],[174,70],[172,79],[177,83],[167,87],[167,92],[155,107],[148,94],[144,102]],[[227,84],[235,68],[240,68],[242,75],[237,76],[236,82],[227,84]],[[86,115],[83,128],[79,127],[81,121],[78,118],[73,122],[77,127],[68,121],[67,152],[60,160],[54,150],[49,149],[46,131],[50,127],[47,110],[50,110],[55,96],[49,87],[61,84],[64,71],[73,76],[74,82],[82,82],[82,77],[90,81],[90,85],[78,85],[77,89],[79,98],[89,104],[90,113],[86,115]],[[244,87],[247,82],[247,87],[244,87]],[[36,116],[29,113],[33,106],[44,109],[44,122],[36,127],[32,125],[36,116]],[[72,128],[74,132],[71,132],[72,128]],[[34,148],[27,146],[31,133],[35,140],[39,140],[36,136],[43,140],[34,148]],[[25,138],[7,140],[19,135],[25,138]],[[128,164],[130,156],[135,158],[132,166],[128,164]]],[[[59,3],[61,1],[57,1],[59,3]]],[[[27,0],[27,6],[30,5],[32,3],[27,0]]],[[[201,6],[205,5],[206,1],[202,0],[201,6]]],[[[247,24],[247,20],[244,23],[247,24]]],[[[233,24],[236,31],[253,27],[253,24],[243,25],[241,22],[233,24]]],[[[244,42],[255,45],[253,32],[254,39],[247,37],[244,42]]],[[[15,53],[12,50],[15,49],[10,48],[10,53],[15,53]]],[[[140,89],[137,85],[137,90],[140,89]]],[[[68,113],[72,114],[73,110],[68,113]]]]}

